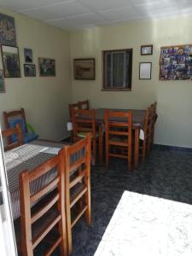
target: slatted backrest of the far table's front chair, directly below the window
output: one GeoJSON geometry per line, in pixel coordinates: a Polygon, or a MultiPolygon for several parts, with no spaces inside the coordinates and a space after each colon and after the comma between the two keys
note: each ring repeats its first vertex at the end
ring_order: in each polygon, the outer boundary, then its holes
{"type": "MultiPolygon", "coordinates": [[[[106,109],[104,112],[104,119],[105,119],[105,129],[106,129],[107,140],[109,140],[111,136],[126,137],[128,141],[128,145],[129,147],[131,147],[131,132],[132,132],[131,111],[127,111],[127,112],[110,111],[106,109]]],[[[119,146],[121,145],[123,146],[123,143],[119,143],[119,146]]]]}

